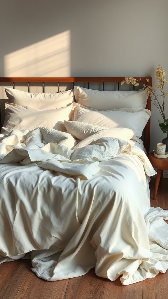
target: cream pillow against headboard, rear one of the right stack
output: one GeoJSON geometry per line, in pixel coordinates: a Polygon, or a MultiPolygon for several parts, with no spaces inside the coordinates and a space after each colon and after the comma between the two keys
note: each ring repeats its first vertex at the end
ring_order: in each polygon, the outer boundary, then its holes
{"type": "Polygon", "coordinates": [[[138,91],[99,91],[74,86],[77,103],[97,110],[119,108],[145,108],[148,96],[143,89],[138,91]]]}

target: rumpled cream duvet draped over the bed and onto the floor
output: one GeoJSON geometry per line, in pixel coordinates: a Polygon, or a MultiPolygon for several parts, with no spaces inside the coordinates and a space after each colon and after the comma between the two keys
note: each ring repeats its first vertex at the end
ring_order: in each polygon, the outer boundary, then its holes
{"type": "Polygon", "coordinates": [[[113,137],[76,143],[49,128],[0,135],[1,263],[30,257],[45,280],[95,267],[124,285],[165,272],[168,211],[150,208],[143,150],[113,137]]]}

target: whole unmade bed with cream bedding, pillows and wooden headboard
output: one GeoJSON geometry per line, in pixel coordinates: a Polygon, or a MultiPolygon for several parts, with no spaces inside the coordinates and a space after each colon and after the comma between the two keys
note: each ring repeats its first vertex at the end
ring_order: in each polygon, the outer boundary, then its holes
{"type": "Polygon", "coordinates": [[[48,281],[95,267],[123,285],[167,270],[168,211],[150,207],[150,99],[123,80],[0,78],[0,263],[30,258],[48,281]]]}

